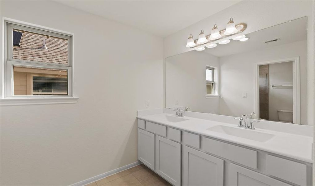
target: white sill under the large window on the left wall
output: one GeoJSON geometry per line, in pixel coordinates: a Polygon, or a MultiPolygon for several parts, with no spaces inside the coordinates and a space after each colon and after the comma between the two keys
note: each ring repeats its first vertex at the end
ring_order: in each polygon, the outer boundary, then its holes
{"type": "Polygon", "coordinates": [[[78,99],[78,97],[6,98],[0,99],[0,106],[77,103],[78,99]]]}

